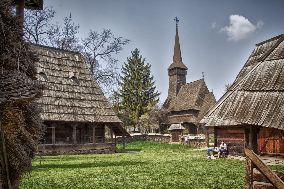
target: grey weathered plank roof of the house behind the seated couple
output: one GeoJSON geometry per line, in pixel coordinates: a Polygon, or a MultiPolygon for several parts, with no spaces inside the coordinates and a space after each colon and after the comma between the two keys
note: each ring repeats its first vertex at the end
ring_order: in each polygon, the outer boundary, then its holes
{"type": "Polygon", "coordinates": [[[284,35],[256,44],[237,78],[205,114],[206,126],[250,124],[284,130],[284,35]]]}

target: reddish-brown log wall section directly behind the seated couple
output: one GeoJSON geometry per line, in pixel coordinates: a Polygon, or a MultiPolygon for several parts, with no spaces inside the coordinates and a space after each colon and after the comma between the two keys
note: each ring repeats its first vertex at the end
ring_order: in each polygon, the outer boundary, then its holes
{"type": "Polygon", "coordinates": [[[243,126],[216,127],[217,146],[224,140],[228,147],[227,155],[245,156],[243,147],[243,126]]]}

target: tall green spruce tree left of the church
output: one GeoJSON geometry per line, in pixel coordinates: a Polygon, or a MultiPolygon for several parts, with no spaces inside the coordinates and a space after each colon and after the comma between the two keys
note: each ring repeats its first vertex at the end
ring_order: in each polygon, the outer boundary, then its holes
{"type": "Polygon", "coordinates": [[[133,122],[138,121],[147,106],[159,101],[160,92],[155,92],[154,76],[150,76],[151,65],[145,64],[145,58],[139,56],[136,48],[131,51],[131,56],[124,63],[120,75],[120,88],[117,92],[121,97],[120,107],[127,111],[133,122]]]}

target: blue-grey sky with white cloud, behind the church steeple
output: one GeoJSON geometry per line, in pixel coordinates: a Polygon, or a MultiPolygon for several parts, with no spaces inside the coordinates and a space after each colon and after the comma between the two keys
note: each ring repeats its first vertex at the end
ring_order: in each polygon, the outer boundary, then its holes
{"type": "Polygon", "coordinates": [[[111,29],[131,40],[115,55],[119,67],[130,52],[140,50],[149,62],[156,87],[166,100],[177,16],[186,82],[204,80],[219,100],[223,87],[233,82],[255,44],[284,32],[284,1],[58,1],[45,0],[57,12],[54,21],[72,14],[79,23],[78,37],[90,30],[111,29]]]}

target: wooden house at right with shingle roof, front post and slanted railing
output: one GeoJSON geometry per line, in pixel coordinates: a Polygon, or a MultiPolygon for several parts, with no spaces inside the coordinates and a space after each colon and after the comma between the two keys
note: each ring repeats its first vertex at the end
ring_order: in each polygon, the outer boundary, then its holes
{"type": "Polygon", "coordinates": [[[230,154],[246,156],[246,188],[284,188],[284,172],[272,171],[257,156],[284,157],[283,105],[282,34],[256,44],[232,86],[201,120],[214,126],[218,145],[225,140],[230,154]]]}

